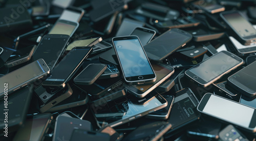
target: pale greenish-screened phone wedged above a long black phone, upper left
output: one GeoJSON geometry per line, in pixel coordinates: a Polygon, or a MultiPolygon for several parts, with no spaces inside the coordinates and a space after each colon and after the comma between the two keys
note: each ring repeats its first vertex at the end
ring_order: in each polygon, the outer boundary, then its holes
{"type": "Polygon", "coordinates": [[[52,26],[52,29],[49,31],[48,34],[65,34],[72,37],[72,35],[75,33],[78,26],[79,26],[78,22],[59,19],[52,26]]]}

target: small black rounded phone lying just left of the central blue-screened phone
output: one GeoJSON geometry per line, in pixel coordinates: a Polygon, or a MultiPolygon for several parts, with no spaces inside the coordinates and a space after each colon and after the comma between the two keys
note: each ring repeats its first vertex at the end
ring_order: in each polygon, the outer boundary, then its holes
{"type": "Polygon", "coordinates": [[[75,78],[74,83],[91,85],[106,70],[105,64],[89,64],[75,78]]]}

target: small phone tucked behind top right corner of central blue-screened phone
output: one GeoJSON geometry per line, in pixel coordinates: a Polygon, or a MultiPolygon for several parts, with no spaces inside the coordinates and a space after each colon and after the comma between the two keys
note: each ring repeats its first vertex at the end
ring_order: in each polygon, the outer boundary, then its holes
{"type": "Polygon", "coordinates": [[[147,29],[145,27],[136,27],[131,35],[138,36],[142,46],[145,46],[154,38],[154,36],[156,35],[156,31],[147,29]]]}

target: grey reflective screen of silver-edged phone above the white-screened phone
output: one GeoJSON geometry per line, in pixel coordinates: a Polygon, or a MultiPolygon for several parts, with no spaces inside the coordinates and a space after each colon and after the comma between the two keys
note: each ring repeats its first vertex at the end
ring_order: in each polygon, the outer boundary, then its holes
{"type": "Polygon", "coordinates": [[[208,82],[239,63],[238,60],[229,55],[219,52],[196,67],[189,69],[189,71],[208,82]]]}

